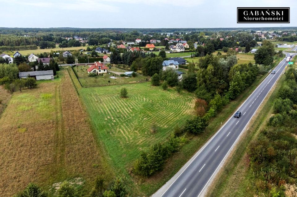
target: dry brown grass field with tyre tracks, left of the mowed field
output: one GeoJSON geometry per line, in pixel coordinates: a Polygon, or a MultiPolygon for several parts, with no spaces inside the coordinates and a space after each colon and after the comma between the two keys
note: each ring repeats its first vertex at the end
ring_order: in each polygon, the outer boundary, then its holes
{"type": "MultiPolygon", "coordinates": [[[[85,189],[99,174],[113,174],[97,145],[70,77],[15,92],[0,119],[0,196],[29,182],[53,183],[82,177],[85,189]]],[[[107,175],[106,175],[107,174],[107,175]]]]}

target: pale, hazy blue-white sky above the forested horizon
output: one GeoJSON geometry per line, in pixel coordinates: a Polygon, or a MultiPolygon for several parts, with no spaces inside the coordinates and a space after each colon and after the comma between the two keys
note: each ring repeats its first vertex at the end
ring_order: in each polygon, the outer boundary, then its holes
{"type": "Polygon", "coordinates": [[[0,27],[297,27],[297,1],[0,0],[0,27]],[[290,23],[236,23],[237,7],[290,7],[290,23]]]}

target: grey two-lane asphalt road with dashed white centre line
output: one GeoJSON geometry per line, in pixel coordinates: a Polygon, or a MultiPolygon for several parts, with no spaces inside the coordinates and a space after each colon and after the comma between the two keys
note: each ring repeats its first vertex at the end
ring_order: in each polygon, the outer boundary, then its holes
{"type": "MultiPolygon", "coordinates": [[[[294,48],[297,50],[297,46],[294,48]]],[[[286,53],[286,56],[289,56],[286,53]]],[[[241,117],[230,117],[215,135],[152,197],[201,197],[235,142],[245,131],[260,104],[282,75],[288,62],[282,60],[236,111],[241,117]]]]}

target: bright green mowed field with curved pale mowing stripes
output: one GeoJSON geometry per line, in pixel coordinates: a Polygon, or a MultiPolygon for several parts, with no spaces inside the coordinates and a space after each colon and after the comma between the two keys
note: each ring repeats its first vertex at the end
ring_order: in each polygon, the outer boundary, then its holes
{"type": "Polygon", "coordinates": [[[82,88],[80,96],[117,174],[127,174],[142,150],[164,142],[176,125],[192,116],[194,95],[164,91],[151,83],[82,88]],[[128,98],[120,98],[121,88],[128,98]],[[157,125],[152,133],[151,126],[157,125]]]}

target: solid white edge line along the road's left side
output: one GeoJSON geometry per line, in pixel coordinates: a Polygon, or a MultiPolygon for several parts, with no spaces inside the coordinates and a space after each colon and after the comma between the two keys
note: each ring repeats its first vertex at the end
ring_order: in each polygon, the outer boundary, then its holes
{"type": "MultiPolygon", "coordinates": [[[[281,61],[282,62],[282,61],[281,61]]],[[[276,67],[278,67],[280,64],[281,64],[281,62],[276,66],[276,67]]],[[[283,64],[282,64],[282,66],[285,64],[286,62],[284,62],[283,64]]],[[[282,67],[281,66],[281,67],[282,67]]],[[[276,68],[275,67],[275,68],[276,68]]],[[[278,69],[278,70],[280,70],[280,69],[278,69]]],[[[268,79],[268,76],[269,75],[267,75],[267,77],[257,86],[257,88],[256,89],[254,89],[254,91],[250,94],[250,96],[248,96],[248,98],[239,106],[239,108],[237,108],[236,109],[236,111],[238,111],[247,101],[248,101],[248,99],[254,94],[254,92],[256,92],[257,91],[257,89],[265,82],[265,80],[266,79],[268,79]]],[[[263,88],[264,89],[264,88],[263,88]]],[[[201,150],[198,150],[198,154],[196,155],[196,157],[187,165],[187,167],[189,167],[190,165],[191,165],[191,163],[198,157],[198,155],[204,150],[204,148],[213,140],[213,138],[214,137],[216,137],[217,136],[217,134],[222,130],[222,128],[224,128],[224,126],[231,120],[231,118],[233,117],[233,115],[224,123],[224,125],[222,125],[221,126],[221,128],[217,131],[217,133],[215,133],[214,135],[213,135],[213,137],[211,137],[210,138],[210,140],[201,148],[201,150]]],[[[229,135],[229,134],[228,134],[229,135]]],[[[160,196],[160,197],[162,197],[165,193],[166,193],[166,191],[173,185],[173,183],[180,177],[180,175],[182,175],[183,174],[183,172],[187,169],[187,167],[178,175],[178,177],[170,184],[170,186],[164,191],[164,193],[160,196]]],[[[170,179],[169,179],[170,180],[170,179]]],[[[165,183],[166,184],[166,183],[165,183]]],[[[161,189],[161,188],[160,188],[161,189]]],[[[202,190],[203,191],[203,190],[202,190]]]]}

